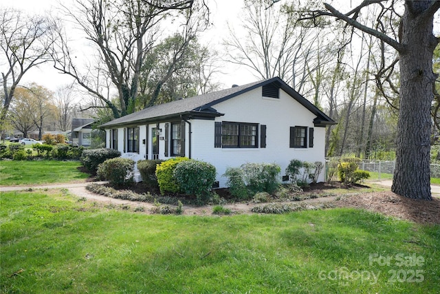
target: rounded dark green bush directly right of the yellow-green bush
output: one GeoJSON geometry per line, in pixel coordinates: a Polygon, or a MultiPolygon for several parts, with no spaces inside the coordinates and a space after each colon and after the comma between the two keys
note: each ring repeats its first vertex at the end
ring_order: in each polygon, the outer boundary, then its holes
{"type": "Polygon", "coordinates": [[[173,177],[181,191],[197,198],[208,194],[216,176],[214,165],[194,159],[179,162],[173,171],[173,177]]]}

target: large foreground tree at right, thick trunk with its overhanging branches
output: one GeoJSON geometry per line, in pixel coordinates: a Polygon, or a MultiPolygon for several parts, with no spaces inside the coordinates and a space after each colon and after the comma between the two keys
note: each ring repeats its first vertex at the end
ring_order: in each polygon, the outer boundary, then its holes
{"type": "Polygon", "coordinates": [[[391,190],[401,196],[432,200],[430,191],[430,130],[432,89],[437,74],[432,71],[432,55],[439,43],[433,34],[434,14],[440,8],[440,1],[404,1],[404,14],[399,28],[381,32],[358,21],[363,8],[380,6],[383,13],[378,22],[395,19],[395,1],[362,1],[359,6],[342,13],[329,3],[326,10],[309,11],[303,19],[335,17],[375,36],[393,47],[399,53],[401,85],[399,89],[399,121],[396,151],[396,167],[391,190]]]}

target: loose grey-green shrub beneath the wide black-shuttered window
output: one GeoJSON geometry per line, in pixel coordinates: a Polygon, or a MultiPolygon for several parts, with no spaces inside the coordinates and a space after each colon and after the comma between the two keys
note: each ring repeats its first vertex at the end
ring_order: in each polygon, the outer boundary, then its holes
{"type": "Polygon", "coordinates": [[[278,174],[281,167],[275,163],[245,163],[243,169],[243,180],[252,195],[258,192],[273,193],[279,186],[278,174]]]}

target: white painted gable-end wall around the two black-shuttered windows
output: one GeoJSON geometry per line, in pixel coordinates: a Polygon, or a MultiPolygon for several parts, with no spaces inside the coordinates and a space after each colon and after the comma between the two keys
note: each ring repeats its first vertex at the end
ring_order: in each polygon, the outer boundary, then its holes
{"type": "MultiPolygon", "coordinates": [[[[325,128],[315,127],[316,118],[294,98],[280,90],[280,98],[263,98],[261,87],[223,103],[214,105],[225,114],[215,121],[259,123],[266,125],[266,148],[214,148],[214,121],[192,120],[192,158],[212,163],[217,168],[217,179],[224,187],[222,177],[227,167],[239,167],[245,162],[276,163],[281,176],[290,160],[325,162],[325,128]],[[314,127],[314,147],[289,148],[290,127],[314,127]]],[[[259,129],[260,135],[260,129],[259,129]]],[[[260,143],[260,136],[258,136],[260,143]]],[[[309,144],[307,129],[307,145],[309,144]]],[[[319,181],[324,180],[323,173],[319,181]]]]}

